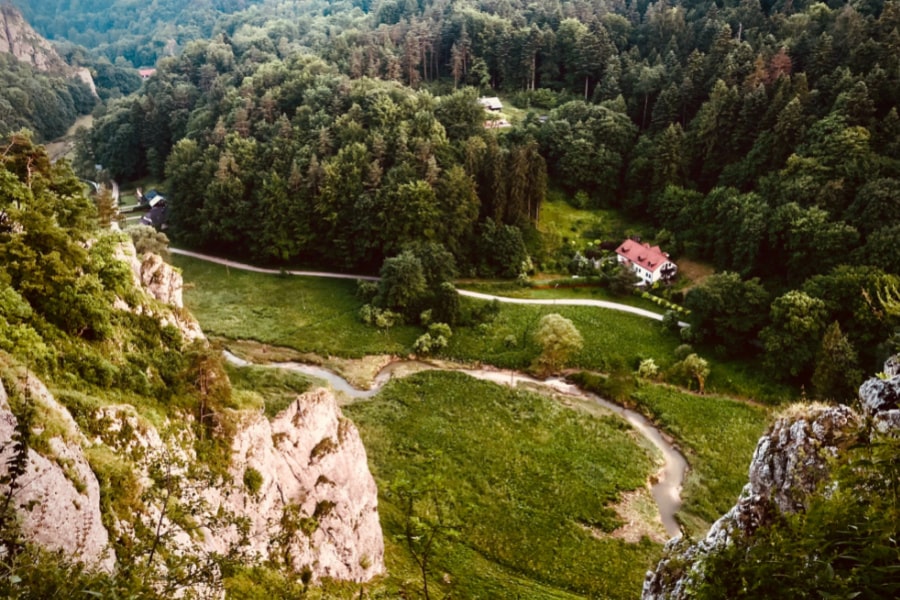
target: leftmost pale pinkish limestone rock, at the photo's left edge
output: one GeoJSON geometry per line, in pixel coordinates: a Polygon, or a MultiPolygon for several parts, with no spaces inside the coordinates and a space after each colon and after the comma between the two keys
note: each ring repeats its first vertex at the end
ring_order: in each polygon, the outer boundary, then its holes
{"type": "MultiPolygon", "coordinates": [[[[100,513],[100,484],[82,450],[83,436],[47,388],[23,373],[21,390],[41,411],[51,413],[62,431],[47,440],[45,455],[28,449],[27,466],[11,496],[21,535],[49,550],[58,550],[91,567],[107,571],[115,556],[100,513]]],[[[9,473],[18,421],[0,382],[0,477],[9,473]]],[[[40,432],[35,432],[39,434],[40,432]]],[[[6,496],[9,486],[0,485],[6,496]]]]}

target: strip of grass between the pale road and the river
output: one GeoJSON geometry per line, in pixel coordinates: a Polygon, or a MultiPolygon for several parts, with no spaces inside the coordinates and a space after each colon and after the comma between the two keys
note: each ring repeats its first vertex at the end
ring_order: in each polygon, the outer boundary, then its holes
{"type": "MultiPolygon", "coordinates": [[[[379,330],[362,323],[357,317],[362,303],[352,281],[249,273],[182,256],[172,260],[184,274],[185,303],[208,335],[354,358],[406,355],[422,333],[417,327],[379,330]]],[[[461,300],[469,310],[483,304],[461,300]]],[[[528,368],[539,353],[532,334],[541,316],[550,312],[571,319],[584,338],[584,348],[570,361],[576,367],[635,370],[641,359],[653,358],[666,368],[681,343],[656,321],[613,310],[501,304],[493,320],[457,327],[444,354],[463,362],[528,368]]],[[[760,378],[752,364],[707,358],[710,392],[771,403],[790,396],[787,388],[760,378]]]]}

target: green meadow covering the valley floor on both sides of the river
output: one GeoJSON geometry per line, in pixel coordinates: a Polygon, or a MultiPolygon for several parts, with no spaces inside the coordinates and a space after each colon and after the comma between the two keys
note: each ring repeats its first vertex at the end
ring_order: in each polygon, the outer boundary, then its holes
{"type": "MultiPolygon", "coordinates": [[[[422,331],[363,324],[352,281],[248,273],[181,256],[174,261],[184,274],[187,307],[208,334],[226,340],[323,357],[405,356],[422,331]]],[[[463,312],[484,306],[461,301],[463,312]]],[[[653,358],[665,369],[681,343],[658,322],[617,311],[498,304],[486,321],[456,327],[442,358],[527,369],[538,354],[532,332],[548,312],[571,319],[584,338],[572,367],[628,372],[653,358]]],[[[691,465],[679,518],[692,533],[734,503],[768,420],[766,408],[716,393],[778,394],[752,365],[714,359],[710,365],[710,395],[647,383],[629,392],[629,401],[672,436],[691,465]]],[[[235,387],[261,396],[269,414],[307,385],[267,370],[233,371],[235,387]]],[[[454,596],[631,598],[661,550],[646,538],[625,543],[608,535],[618,524],[610,504],[655,471],[651,455],[617,418],[588,416],[449,372],[395,380],[374,400],[345,411],[360,428],[379,484],[390,573],[379,584],[385,589],[421,589],[402,535],[408,503],[396,490],[403,485],[443,490],[436,501],[455,534],[440,545],[430,572],[432,583],[454,596]]],[[[426,516],[433,513],[427,502],[422,506],[426,516]]]]}

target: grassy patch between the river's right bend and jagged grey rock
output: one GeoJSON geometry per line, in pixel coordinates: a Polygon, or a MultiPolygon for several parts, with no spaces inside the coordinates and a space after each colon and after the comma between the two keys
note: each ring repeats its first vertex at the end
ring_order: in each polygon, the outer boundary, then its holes
{"type": "Polygon", "coordinates": [[[697,396],[661,385],[643,385],[632,399],[678,440],[691,465],[679,517],[689,531],[705,531],[731,508],[747,483],[747,468],[769,412],[728,398],[697,396]]]}

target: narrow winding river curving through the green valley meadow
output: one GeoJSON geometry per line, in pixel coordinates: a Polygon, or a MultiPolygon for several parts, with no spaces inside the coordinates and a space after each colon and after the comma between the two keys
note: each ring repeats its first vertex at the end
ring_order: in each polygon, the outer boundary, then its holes
{"type": "MultiPolygon", "coordinates": [[[[253,364],[241,358],[238,358],[228,351],[225,351],[225,358],[230,363],[238,366],[253,364]]],[[[384,367],[376,375],[371,388],[367,390],[360,390],[350,385],[350,383],[346,379],[344,379],[337,373],[317,365],[309,365],[298,362],[283,362],[269,363],[265,366],[279,369],[288,369],[327,381],[332,389],[334,389],[336,392],[341,392],[342,394],[353,400],[371,398],[372,396],[380,392],[381,388],[384,387],[384,385],[392,377],[406,377],[419,371],[439,369],[439,367],[435,367],[428,363],[419,361],[395,361],[384,367]]],[[[618,404],[610,402],[609,400],[601,398],[596,394],[585,392],[578,386],[563,381],[562,379],[541,380],[530,377],[518,371],[509,370],[465,368],[454,370],[466,373],[467,375],[475,377],[476,379],[491,381],[493,383],[507,385],[510,387],[516,387],[519,384],[527,384],[538,388],[544,388],[557,394],[562,394],[564,396],[587,399],[597,404],[598,406],[609,410],[610,412],[614,412],[620,415],[632,427],[634,427],[634,429],[639,434],[644,436],[645,439],[652,443],[662,453],[664,464],[659,473],[657,473],[650,491],[653,494],[653,499],[656,502],[657,507],[659,508],[659,514],[662,518],[662,523],[666,529],[666,533],[670,537],[675,537],[681,534],[681,529],[678,526],[678,522],[675,520],[675,513],[677,513],[681,508],[681,486],[684,483],[685,473],[687,472],[687,460],[685,460],[684,456],[677,449],[675,449],[675,447],[671,443],[669,443],[662,432],[660,432],[660,430],[657,429],[646,417],[633,410],[624,408],[618,404]]]]}

